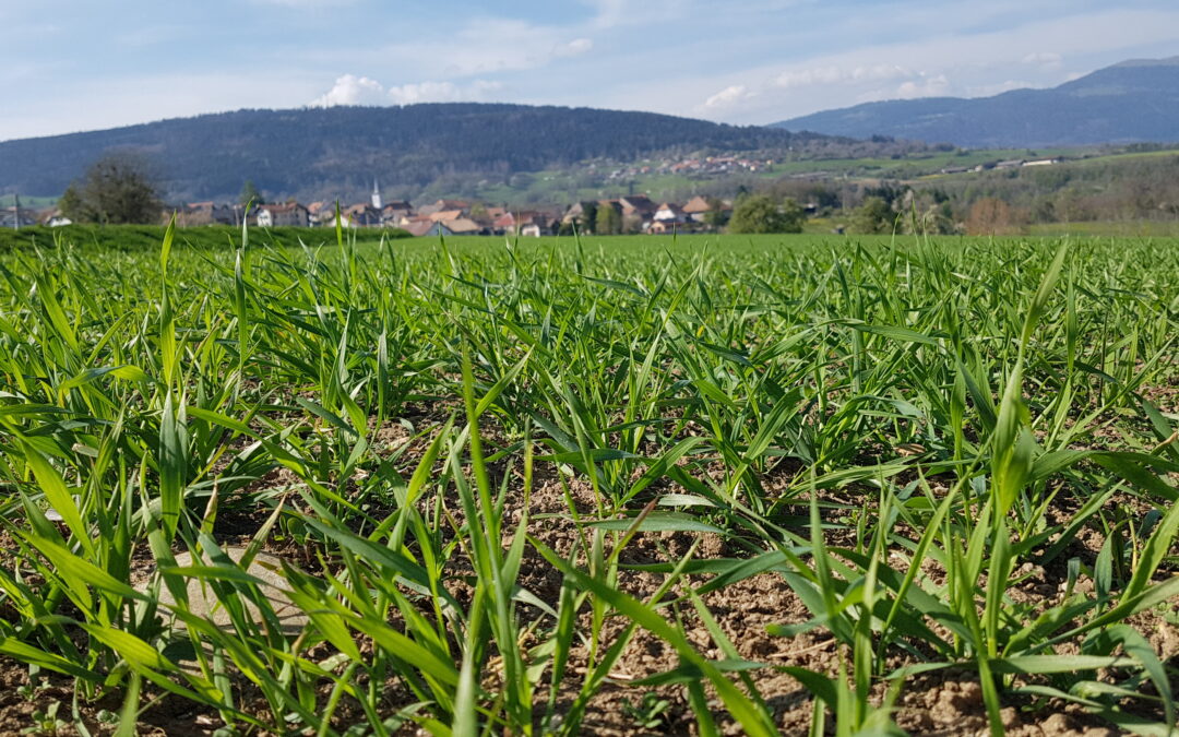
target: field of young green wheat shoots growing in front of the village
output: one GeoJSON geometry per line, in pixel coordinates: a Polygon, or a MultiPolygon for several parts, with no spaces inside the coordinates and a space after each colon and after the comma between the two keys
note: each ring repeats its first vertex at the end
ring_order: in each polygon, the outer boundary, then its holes
{"type": "Polygon", "coordinates": [[[1171,733],[1179,242],[308,233],[0,255],[0,732],[1171,733]]]}

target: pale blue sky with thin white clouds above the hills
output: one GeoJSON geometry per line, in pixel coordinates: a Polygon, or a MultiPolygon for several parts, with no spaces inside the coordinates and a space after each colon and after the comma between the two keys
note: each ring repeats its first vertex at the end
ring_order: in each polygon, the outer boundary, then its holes
{"type": "Polygon", "coordinates": [[[762,124],[1053,86],[1177,37],[1165,0],[0,0],[0,140],[450,100],[762,124]]]}

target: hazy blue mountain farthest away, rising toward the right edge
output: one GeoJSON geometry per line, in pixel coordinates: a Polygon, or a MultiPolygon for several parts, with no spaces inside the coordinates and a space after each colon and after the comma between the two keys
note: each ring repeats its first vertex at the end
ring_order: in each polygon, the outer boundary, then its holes
{"type": "Polygon", "coordinates": [[[867,103],[775,123],[830,136],[891,136],[975,149],[1179,140],[1179,57],[1122,61],[1050,90],[867,103]]]}

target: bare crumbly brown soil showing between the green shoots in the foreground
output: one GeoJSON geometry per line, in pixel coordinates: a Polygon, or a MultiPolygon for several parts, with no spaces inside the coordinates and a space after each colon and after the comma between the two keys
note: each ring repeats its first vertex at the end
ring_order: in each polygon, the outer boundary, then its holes
{"type": "MultiPolygon", "coordinates": [[[[1165,399],[1171,399],[1171,395],[1165,399]]],[[[437,414],[432,415],[428,410],[422,409],[413,417],[413,427],[416,432],[410,432],[400,423],[390,423],[375,433],[371,439],[373,446],[382,458],[395,458],[399,472],[408,478],[424,453],[430,437],[429,433],[424,435],[419,435],[419,433],[436,426],[441,420],[437,414]]],[[[492,429],[488,433],[488,446],[505,445],[500,441],[501,436],[498,436],[492,429]]],[[[501,467],[493,467],[493,471],[496,474],[505,472],[501,467]]],[[[789,465],[776,469],[775,478],[766,479],[766,488],[783,488],[780,483],[790,471],[789,465]]],[[[344,482],[356,482],[356,480],[345,480],[344,482]]],[[[298,480],[292,474],[276,471],[252,485],[248,492],[297,485],[298,480]]],[[[844,489],[844,493],[847,491],[844,489]]],[[[838,493],[832,492],[824,501],[832,506],[855,505],[857,499],[862,502],[863,499],[872,499],[872,496],[870,494],[868,496],[847,494],[845,498],[842,498],[838,493]]],[[[1065,495],[1060,495],[1060,500],[1059,508],[1054,507],[1049,515],[1052,521],[1067,518],[1074,511],[1069,508],[1072,502],[1068,502],[1065,495]]],[[[1138,502],[1137,499],[1126,495],[1120,496],[1118,501],[1120,504],[1138,502]]],[[[523,500],[520,498],[513,498],[508,501],[503,519],[506,535],[514,529],[521,519],[522,504],[523,500]]],[[[584,550],[580,539],[584,533],[574,524],[571,512],[594,518],[595,508],[593,489],[586,481],[565,479],[562,482],[558,468],[538,463],[528,509],[528,532],[538,540],[562,555],[568,554],[575,547],[584,550]]],[[[456,525],[463,524],[461,508],[457,508],[453,500],[448,500],[448,512],[456,525]]],[[[802,512],[792,509],[791,513],[805,514],[805,509],[802,512]]],[[[268,511],[265,509],[223,511],[218,515],[216,537],[222,542],[244,542],[266,515],[268,511]]],[[[831,512],[825,514],[826,516],[839,519],[839,513],[831,512]]],[[[804,529],[798,532],[806,534],[804,529]]],[[[447,534],[453,535],[454,533],[449,531],[447,534]]],[[[7,533],[0,531],[0,548],[12,550],[5,545],[11,542],[9,539],[5,539],[5,535],[7,533]]],[[[617,540],[617,537],[612,539],[617,540]]],[[[836,528],[829,535],[829,544],[844,545],[850,539],[849,531],[836,528]]],[[[1028,566],[1022,570],[1020,573],[1025,574],[1026,578],[1009,592],[1012,598],[1036,608],[1058,604],[1066,575],[1065,561],[1075,555],[1082,558],[1088,565],[1100,550],[1101,544],[1102,540],[1094,529],[1085,528],[1082,534],[1073,541],[1069,551],[1060,555],[1053,564],[1047,567],[1028,566]]],[[[638,534],[619,554],[619,561],[623,565],[618,580],[619,588],[640,600],[650,599],[664,584],[664,575],[633,570],[628,566],[677,561],[693,545],[697,559],[738,558],[745,554],[743,547],[736,541],[725,540],[714,534],[638,534]]],[[[310,572],[330,573],[330,571],[318,570],[318,564],[311,551],[290,541],[269,542],[266,550],[288,557],[289,560],[310,572]]],[[[607,547],[607,553],[610,552],[611,550],[607,547]]],[[[8,561],[4,562],[8,565],[8,561]]],[[[447,581],[450,593],[463,604],[470,597],[470,588],[463,580],[463,573],[469,572],[469,568],[463,571],[466,562],[461,554],[453,557],[449,564],[452,578],[447,581]]],[[[149,573],[150,557],[144,552],[138,564],[136,577],[141,579],[149,573]]],[[[942,572],[934,568],[924,571],[930,586],[936,586],[943,578],[942,572]]],[[[726,641],[713,640],[691,603],[686,599],[678,600],[685,593],[686,585],[699,586],[706,580],[707,577],[694,575],[680,581],[663,598],[665,603],[671,600],[677,600],[677,603],[670,604],[660,611],[666,618],[681,623],[690,641],[705,657],[725,658],[726,647],[732,647],[740,658],[766,664],[766,667],[747,673],[751,683],[772,708],[777,725],[783,733],[806,733],[812,715],[810,695],[796,679],[773,666],[799,666],[834,677],[838,671],[838,664],[849,660],[847,652],[841,650],[832,636],[823,627],[791,638],[776,637],[766,631],[766,625],[799,624],[810,618],[810,612],[798,594],[780,574],[773,572],[760,573],[737,581],[704,597],[705,606],[716,619],[726,641]]],[[[521,570],[520,584],[541,600],[555,603],[561,583],[560,572],[529,547],[521,570]]],[[[1082,575],[1078,588],[1085,591],[1086,587],[1092,590],[1092,581],[1082,575]]],[[[520,611],[526,621],[542,617],[542,613],[534,607],[522,606],[520,611]]],[[[14,616],[15,612],[0,608],[0,617],[12,620],[14,616]]],[[[588,633],[592,624],[591,613],[582,612],[579,621],[581,631],[588,633]]],[[[627,624],[628,621],[621,618],[607,617],[599,632],[600,649],[610,647],[617,641],[617,638],[623,637],[628,630],[627,624]]],[[[1153,612],[1139,614],[1132,624],[1151,640],[1161,658],[1171,660],[1172,665],[1175,663],[1174,659],[1179,657],[1179,629],[1153,612]]],[[[361,645],[362,647],[369,646],[363,641],[361,645]]],[[[591,653],[585,645],[575,647],[568,675],[559,687],[559,711],[567,709],[577,698],[586,677],[590,657],[591,653]]],[[[901,650],[889,652],[887,657],[888,667],[885,670],[915,662],[910,653],[901,650]]],[[[584,732],[592,735],[696,733],[694,715],[683,686],[645,687],[633,683],[674,669],[677,665],[679,665],[679,658],[666,643],[644,630],[634,631],[618,663],[611,670],[606,684],[590,700],[582,723],[584,732]],[[632,706],[639,704],[648,692],[666,700],[667,705],[660,712],[658,723],[641,728],[633,717],[632,706]]],[[[494,680],[494,675],[489,677],[494,680]]],[[[38,679],[37,687],[29,691],[28,667],[0,656],[0,736],[19,735],[27,730],[33,725],[34,711],[44,711],[54,702],[61,704],[58,717],[65,722],[72,720],[71,704],[74,700],[72,680],[47,672],[42,672],[38,679]]],[[[265,702],[256,689],[244,679],[241,680],[237,692],[238,703],[248,712],[265,715],[265,702]]],[[[411,695],[400,683],[390,682],[386,685],[383,713],[393,713],[399,708],[413,702],[411,695]]],[[[323,686],[324,698],[328,690],[330,690],[330,684],[323,686]]],[[[872,690],[875,703],[880,703],[884,698],[884,691],[885,684],[876,684],[872,690]]],[[[716,693],[711,690],[707,692],[711,699],[710,705],[723,732],[740,733],[739,725],[731,720],[716,693]]],[[[542,687],[539,697],[544,698],[546,695],[542,687]]],[[[153,697],[158,697],[158,693],[145,687],[145,698],[153,697]]],[[[111,733],[114,728],[112,724],[100,720],[101,712],[105,710],[117,713],[120,705],[117,693],[99,697],[90,703],[79,699],[79,715],[91,733],[106,735],[111,733]]],[[[894,718],[901,728],[915,735],[977,735],[987,730],[987,716],[977,680],[970,672],[954,669],[911,677],[895,704],[894,718]]],[[[334,726],[344,729],[350,723],[363,720],[364,713],[360,706],[345,698],[336,712],[334,726]]],[[[1079,708],[1054,699],[1034,705],[1027,699],[1012,699],[1003,710],[1003,724],[1007,733],[1026,737],[1047,737],[1049,735],[1096,737],[1117,733],[1108,729],[1105,723],[1085,713],[1079,708]]],[[[165,697],[145,711],[139,723],[139,733],[212,735],[219,726],[222,726],[222,722],[215,711],[203,706],[193,706],[191,703],[174,697],[165,697]]],[[[57,733],[73,735],[78,732],[72,726],[62,726],[57,733]]],[[[413,729],[408,729],[407,733],[413,733],[413,729]]]]}

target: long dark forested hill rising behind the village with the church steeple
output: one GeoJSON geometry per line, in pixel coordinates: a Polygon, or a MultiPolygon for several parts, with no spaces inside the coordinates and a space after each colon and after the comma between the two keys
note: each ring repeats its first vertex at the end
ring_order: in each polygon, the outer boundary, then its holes
{"type": "Polygon", "coordinates": [[[645,112],[526,105],[243,110],[0,143],[0,192],[59,195],[112,150],[147,154],[173,199],[236,197],[251,179],[272,197],[327,198],[421,187],[443,177],[503,179],[592,158],[855,144],[764,126],[645,112]]]}

